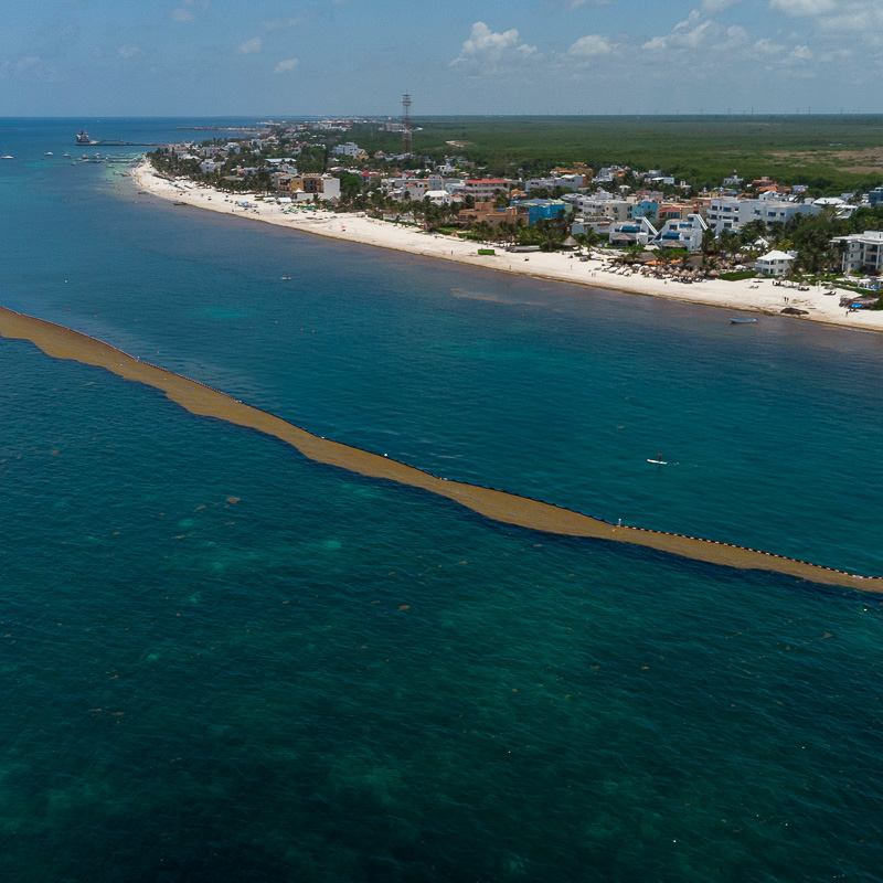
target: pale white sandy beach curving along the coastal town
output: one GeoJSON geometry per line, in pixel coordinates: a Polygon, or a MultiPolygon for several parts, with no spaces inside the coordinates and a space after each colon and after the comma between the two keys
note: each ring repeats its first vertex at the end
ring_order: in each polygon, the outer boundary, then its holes
{"type": "Polygon", "coordinates": [[[156,175],[147,160],[137,167],[134,180],[140,190],[162,199],[332,240],[375,245],[542,279],[610,288],[626,294],[663,297],[728,310],[778,315],[786,306],[796,307],[808,312],[807,316],[792,317],[798,320],[829,322],[865,331],[883,331],[883,311],[859,310],[848,315],[840,307],[839,295],[843,292],[827,296],[823,294],[825,289],[819,287],[812,287],[809,291],[798,291],[796,288],[774,286],[768,279],[745,279],[735,283],[709,279],[685,285],[673,280],[648,279],[639,275],[616,275],[602,269],[603,260],[581,262],[560,253],[533,252],[525,255],[500,252],[493,256],[479,256],[475,243],[424,233],[415,227],[401,226],[373,217],[358,217],[355,214],[337,215],[327,210],[286,214],[284,206],[263,202],[254,203],[255,208],[243,209],[236,203],[248,200],[248,196],[231,196],[189,182],[168,181],[156,175]],[[788,298],[787,302],[785,298],[788,298]]]}

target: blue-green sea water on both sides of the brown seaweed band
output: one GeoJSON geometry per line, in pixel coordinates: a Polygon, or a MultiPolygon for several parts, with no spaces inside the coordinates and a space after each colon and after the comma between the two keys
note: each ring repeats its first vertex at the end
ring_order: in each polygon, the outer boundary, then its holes
{"type": "MultiPolygon", "coordinates": [[[[0,120],[0,304],[438,475],[883,574],[883,336],[71,164],[246,121],[0,120]]],[[[23,341],[0,402],[1,880],[883,880],[876,596],[508,528],[23,341]]]]}

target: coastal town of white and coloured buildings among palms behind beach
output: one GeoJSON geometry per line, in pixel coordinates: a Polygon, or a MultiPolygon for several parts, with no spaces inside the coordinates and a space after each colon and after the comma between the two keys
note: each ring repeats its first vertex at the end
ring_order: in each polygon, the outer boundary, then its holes
{"type": "MultiPolygon", "coordinates": [[[[353,223],[366,219],[447,241],[455,246],[447,256],[467,244],[489,266],[503,255],[511,269],[513,258],[535,265],[554,254],[592,264],[597,285],[600,272],[619,276],[617,287],[629,277],[749,280],[749,289],[769,279],[825,288],[845,316],[883,309],[883,177],[865,192],[838,194],[770,175],[746,180],[737,170],[700,187],[664,169],[615,163],[506,177],[461,153],[417,153],[414,131],[407,117],[268,121],[246,137],[169,145],[148,159],[179,190],[209,188],[234,211],[277,222],[315,221],[318,210],[347,217],[351,238],[353,223]],[[372,152],[353,139],[377,130],[401,136],[401,151],[372,152]]],[[[812,311],[787,295],[778,300],[794,315],[812,311]]]]}

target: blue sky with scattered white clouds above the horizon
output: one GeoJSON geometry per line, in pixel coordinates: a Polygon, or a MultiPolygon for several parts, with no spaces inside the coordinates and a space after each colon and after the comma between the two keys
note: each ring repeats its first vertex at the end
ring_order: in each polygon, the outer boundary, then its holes
{"type": "Polygon", "coordinates": [[[883,0],[2,0],[0,116],[883,113],[883,0]]]}

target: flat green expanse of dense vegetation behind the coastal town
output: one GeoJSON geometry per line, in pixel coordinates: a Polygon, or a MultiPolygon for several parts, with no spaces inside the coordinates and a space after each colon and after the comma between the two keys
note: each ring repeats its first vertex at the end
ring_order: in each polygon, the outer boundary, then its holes
{"type": "MultiPolygon", "coordinates": [[[[530,177],[584,162],[661,169],[717,187],[733,169],[808,184],[815,195],[866,191],[883,181],[883,117],[424,117],[414,150],[461,156],[490,174],[530,177]]],[[[401,136],[373,126],[350,137],[370,153],[398,152],[401,136]]]]}

